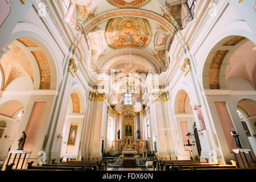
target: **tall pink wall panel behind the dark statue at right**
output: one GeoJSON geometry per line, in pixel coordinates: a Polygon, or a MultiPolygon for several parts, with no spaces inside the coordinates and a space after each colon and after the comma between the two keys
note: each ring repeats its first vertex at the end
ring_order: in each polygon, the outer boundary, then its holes
{"type": "Polygon", "coordinates": [[[228,107],[226,107],[226,102],[214,102],[214,104],[218,112],[218,117],[221,121],[226,141],[228,142],[229,150],[232,152],[232,149],[237,148],[237,145],[236,141],[230,134],[230,130],[234,129],[234,125],[230,118],[228,107]]]}

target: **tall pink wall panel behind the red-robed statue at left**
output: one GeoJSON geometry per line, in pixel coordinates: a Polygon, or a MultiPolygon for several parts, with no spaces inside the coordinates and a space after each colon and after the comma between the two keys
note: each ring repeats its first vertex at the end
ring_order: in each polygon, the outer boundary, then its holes
{"type": "Polygon", "coordinates": [[[27,139],[24,145],[24,150],[28,150],[28,152],[32,152],[33,150],[45,107],[46,102],[35,102],[31,111],[30,119],[28,120],[25,131],[27,139]]]}

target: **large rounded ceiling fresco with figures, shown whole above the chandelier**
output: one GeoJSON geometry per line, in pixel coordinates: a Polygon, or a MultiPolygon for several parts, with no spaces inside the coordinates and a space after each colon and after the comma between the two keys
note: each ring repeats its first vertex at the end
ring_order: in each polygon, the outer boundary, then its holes
{"type": "Polygon", "coordinates": [[[122,47],[144,48],[150,43],[151,37],[150,23],[144,18],[112,18],[106,25],[106,43],[114,49],[122,47]]]}

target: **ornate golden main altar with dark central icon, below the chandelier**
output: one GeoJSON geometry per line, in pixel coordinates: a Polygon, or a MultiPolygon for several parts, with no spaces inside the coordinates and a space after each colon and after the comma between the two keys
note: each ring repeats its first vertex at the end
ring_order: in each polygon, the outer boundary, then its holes
{"type": "Polygon", "coordinates": [[[115,128],[116,138],[112,141],[112,155],[114,154],[142,154],[147,156],[146,140],[143,139],[143,107],[137,103],[130,107],[117,104],[113,113],[121,120],[115,128]],[[119,131],[118,131],[119,130],[119,131]]]}

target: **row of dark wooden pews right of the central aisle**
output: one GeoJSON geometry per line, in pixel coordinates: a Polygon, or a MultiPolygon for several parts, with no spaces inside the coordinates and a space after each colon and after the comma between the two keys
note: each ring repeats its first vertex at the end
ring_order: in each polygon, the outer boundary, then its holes
{"type": "MultiPolygon", "coordinates": [[[[154,160],[153,167],[154,171],[202,171],[238,169],[236,162],[234,162],[233,160],[231,165],[220,165],[220,163],[218,163],[218,160],[216,160],[216,163],[207,163],[195,160],[154,160]]],[[[256,171],[256,169],[253,168],[247,169],[256,171]]]]}

